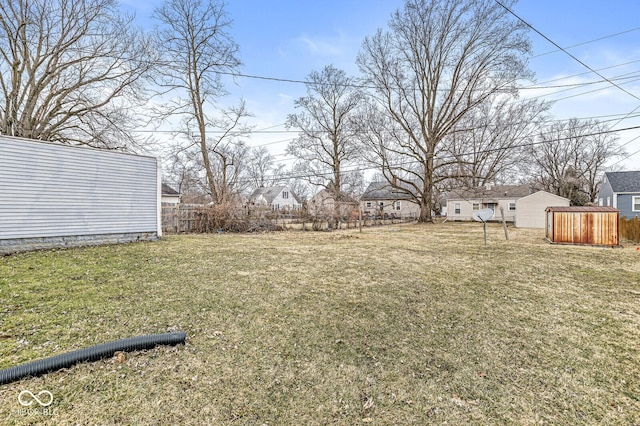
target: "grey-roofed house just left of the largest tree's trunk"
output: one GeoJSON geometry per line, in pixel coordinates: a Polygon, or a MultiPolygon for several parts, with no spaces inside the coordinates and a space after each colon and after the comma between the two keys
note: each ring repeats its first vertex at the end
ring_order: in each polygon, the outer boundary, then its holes
{"type": "Polygon", "coordinates": [[[365,216],[410,218],[420,216],[420,206],[405,191],[388,182],[371,182],[360,197],[360,209],[365,216]]]}

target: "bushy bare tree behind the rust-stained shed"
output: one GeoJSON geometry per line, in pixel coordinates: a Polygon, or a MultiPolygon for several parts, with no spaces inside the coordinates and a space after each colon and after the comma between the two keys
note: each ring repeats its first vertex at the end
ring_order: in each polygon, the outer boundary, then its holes
{"type": "Polygon", "coordinates": [[[624,155],[617,135],[595,120],[556,122],[533,141],[526,172],[538,187],[574,205],[593,202],[606,163],[624,155]]]}

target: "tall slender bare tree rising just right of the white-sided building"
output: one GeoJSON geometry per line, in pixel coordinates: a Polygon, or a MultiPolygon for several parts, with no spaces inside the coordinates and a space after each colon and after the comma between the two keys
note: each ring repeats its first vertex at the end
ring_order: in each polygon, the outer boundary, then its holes
{"type": "Polygon", "coordinates": [[[222,111],[214,104],[227,94],[221,73],[237,71],[240,66],[238,45],[228,33],[231,21],[224,3],[216,0],[167,0],[154,17],[160,23],[157,43],[166,55],[157,83],[174,96],[162,115],[184,117],[185,131],[200,151],[208,191],[214,202],[222,203],[229,196],[227,142],[238,132],[246,133],[241,120],[248,115],[244,102],[222,111]],[[210,138],[209,127],[223,136],[210,138]],[[222,181],[216,179],[212,154],[221,162],[217,174],[222,181]]]}

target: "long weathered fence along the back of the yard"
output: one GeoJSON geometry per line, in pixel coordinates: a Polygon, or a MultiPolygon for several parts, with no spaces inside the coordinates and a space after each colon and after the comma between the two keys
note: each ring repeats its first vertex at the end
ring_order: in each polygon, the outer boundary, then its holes
{"type": "MultiPolygon", "coordinates": [[[[415,220],[413,217],[359,217],[348,215],[338,223],[340,229],[391,225],[415,220]]],[[[163,204],[162,232],[166,234],[268,230],[313,230],[331,227],[333,221],[324,216],[310,216],[301,211],[271,210],[235,206],[206,206],[202,204],[163,204]]]]}

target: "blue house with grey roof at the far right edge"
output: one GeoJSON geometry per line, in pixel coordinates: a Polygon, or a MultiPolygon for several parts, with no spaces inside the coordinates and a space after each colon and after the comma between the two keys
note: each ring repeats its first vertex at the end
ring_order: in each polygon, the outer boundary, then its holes
{"type": "Polygon", "coordinates": [[[614,207],[627,219],[640,219],[640,171],[605,172],[598,192],[598,205],[614,207]]]}

